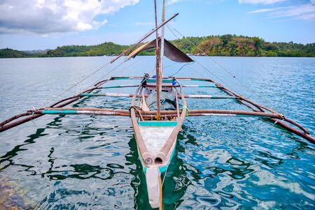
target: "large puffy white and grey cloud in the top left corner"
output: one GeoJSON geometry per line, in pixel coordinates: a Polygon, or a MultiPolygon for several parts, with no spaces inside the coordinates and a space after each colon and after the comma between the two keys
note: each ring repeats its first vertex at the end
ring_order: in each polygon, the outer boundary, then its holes
{"type": "Polygon", "coordinates": [[[64,33],[97,29],[139,0],[2,0],[0,33],[64,33]]]}

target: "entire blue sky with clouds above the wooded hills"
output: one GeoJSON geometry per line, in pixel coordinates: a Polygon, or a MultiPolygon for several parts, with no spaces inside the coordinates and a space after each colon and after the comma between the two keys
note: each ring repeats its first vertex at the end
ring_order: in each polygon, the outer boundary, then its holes
{"type": "MultiPolygon", "coordinates": [[[[158,1],[161,20],[162,0],[158,1]]],[[[315,43],[315,0],[165,0],[183,36],[236,34],[315,43]]],[[[135,43],[154,28],[153,0],[0,0],[0,48],[135,43]]],[[[181,38],[165,28],[168,40],[181,38]]]]}

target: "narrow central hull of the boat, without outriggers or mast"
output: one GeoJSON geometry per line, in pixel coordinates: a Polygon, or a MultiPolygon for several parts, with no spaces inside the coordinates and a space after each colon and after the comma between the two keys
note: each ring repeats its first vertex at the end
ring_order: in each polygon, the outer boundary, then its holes
{"type": "Polygon", "coordinates": [[[178,82],[175,79],[168,79],[163,81],[163,88],[160,98],[161,107],[171,108],[174,106],[174,111],[177,114],[175,117],[165,117],[156,114],[148,119],[142,117],[141,113],[144,110],[156,108],[157,100],[155,98],[157,93],[156,80],[147,79],[146,87],[139,86],[132,98],[132,107],[130,108],[130,117],[132,119],[132,126],[134,128],[134,137],[137,141],[139,151],[139,158],[146,174],[146,186],[148,190],[148,200],[152,208],[162,206],[162,173],[167,172],[167,167],[172,161],[175,153],[177,142],[177,135],[181,131],[183,120],[186,117],[186,100],[183,95],[181,84],[179,84],[181,95],[174,87],[172,82],[178,82]],[[146,99],[147,98],[147,99],[146,99]],[[180,114],[179,98],[183,103],[183,112],[180,114]],[[137,104],[136,105],[136,100],[137,104]],[[146,104],[148,101],[148,105],[146,104]],[[167,101],[167,102],[166,102],[167,101]]]}

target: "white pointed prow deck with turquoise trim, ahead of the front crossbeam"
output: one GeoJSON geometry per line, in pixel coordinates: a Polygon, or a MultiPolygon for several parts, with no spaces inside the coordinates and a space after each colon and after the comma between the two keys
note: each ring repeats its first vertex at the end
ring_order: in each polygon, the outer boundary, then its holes
{"type": "Polygon", "coordinates": [[[177,134],[180,130],[176,129],[177,125],[177,121],[138,122],[140,132],[135,133],[135,137],[137,141],[143,140],[146,147],[144,153],[140,152],[140,158],[146,173],[148,199],[152,208],[160,207],[161,174],[167,171],[175,153],[177,134]]]}

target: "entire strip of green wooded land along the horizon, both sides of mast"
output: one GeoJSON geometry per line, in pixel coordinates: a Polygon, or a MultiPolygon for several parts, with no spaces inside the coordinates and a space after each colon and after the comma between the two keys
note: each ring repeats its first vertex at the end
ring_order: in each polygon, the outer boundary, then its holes
{"type": "MultiPolygon", "coordinates": [[[[232,57],[315,57],[315,43],[269,43],[258,37],[223,36],[185,37],[171,41],[186,54],[200,56],[232,57]],[[197,46],[197,47],[195,47],[197,46]]],[[[127,45],[106,42],[100,45],[66,45],[55,50],[19,51],[9,48],[0,50],[0,58],[22,57],[90,57],[120,54],[127,45]]],[[[141,52],[140,55],[153,55],[154,50],[141,52]]]]}

